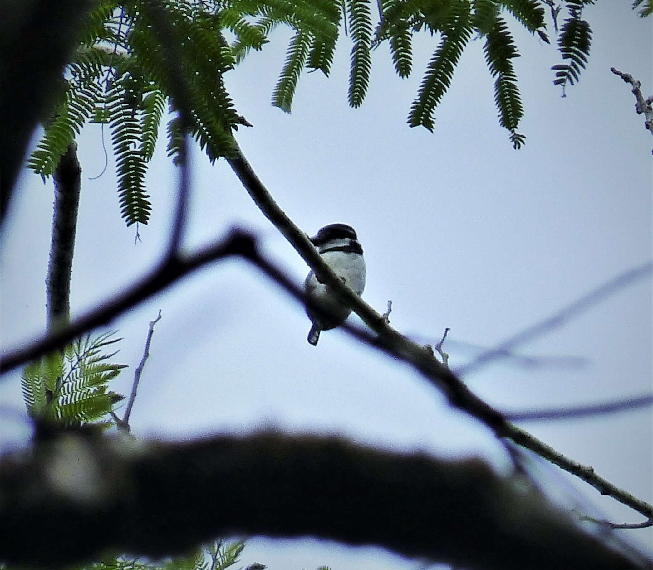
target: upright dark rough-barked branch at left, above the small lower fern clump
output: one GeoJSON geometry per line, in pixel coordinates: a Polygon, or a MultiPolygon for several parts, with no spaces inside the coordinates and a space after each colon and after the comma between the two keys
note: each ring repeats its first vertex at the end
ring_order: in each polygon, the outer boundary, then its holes
{"type": "Polygon", "coordinates": [[[46,277],[48,330],[51,331],[67,325],[71,319],[72,254],[81,185],[82,167],[77,159],[77,143],[72,142],[54,170],[52,241],[46,277]]]}

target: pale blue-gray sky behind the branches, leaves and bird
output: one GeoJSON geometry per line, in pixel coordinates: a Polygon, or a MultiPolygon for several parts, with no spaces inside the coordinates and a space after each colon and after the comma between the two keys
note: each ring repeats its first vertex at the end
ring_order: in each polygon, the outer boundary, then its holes
{"type": "MultiPolygon", "coordinates": [[[[514,151],[499,127],[483,42],[473,41],[436,115],[434,134],[410,129],[406,115],[438,38],[415,41],[413,76],[400,80],[387,46],[374,53],[368,97],[347,106],[349,38],[332,76],[304,74],[287,115],[270,106],[289,34],[277,31],[227,76],[236,108],[253,128],[238,141],[279,205],[306,232],[331,222],[357,229],[365,249],[364,298],[379,310],[392,299],[392,325],[434,344],[451,327],[452,364],[473,356],[454,341],[490,347],[652,258],[653,138],[635,114],[629,86],[614,66],[653,93],[653,20],[629,3],[586,9],[594,40],[579,85],[552,85],[547,46],[513,25],[522,53],[515,62],[526,117],[526,145],[514,151]]],[[[511,18],[509,21],[514,24],[511,18]]],[[[107,145],[108,132],[104,133],[107,145]]],[[[104,163],[99,127],[80,137],[84,169],[72,274],[73,314],[142,275],[167,243],[176,172],[161,141],[148,175],[153,215],[140,228],[119,219],[114,164],[104,163]]],[[[300,282],[306,265],[263,218],[231,170],[193,153],[193,190],[185,245],[212,241],[234,224],[254,228],[266,252],[300,282]]],[[[50,243],[52,182],[25,173],[3,232],[0,327],[3,347],[43,330],[44,278],[50,243]]],[[[586,359],[582,368],[524,369],[494,363],[466,378],[502,410],[568,406],[650,393],[652,288],[641,280],[524,346],[528,355],[586,359]]],[[[462,457],[477,453],[505,466],[488,432],[449,409],[406,366],[340,331],[317,348],[301,307],[246,263],[202,269],[112,323],[121,337],[114,384],[128,393],[148,322],[161,308],[151,357],[132,415],[137,436],[185,438],[260,427],[338,433],[388,449],[425,449],[462,457]]],[[[445,345],[445,348],[447,346],[445,345]]],[[[18,373],[0,385],[0,402],[21,410],[18,373]]],[[[4,447],[24,443],[27,429],[0,418],[4,447]]],[[[650,409],[620,415],[530,423],[524,427],[569,457],[594,466],[616,485],[653,500],[650,409]]],[[[563,477],[566,480],[566,477],[563,477]]],[[[571,483],[605,516],[640,517],[592,488],[571,483]]],[[[650,530],[628,531],[639,543],[650,530]]],[[[413,567],[378,549],[321,541],[253,539],[244,562],[270,570],[413,567]]]]}

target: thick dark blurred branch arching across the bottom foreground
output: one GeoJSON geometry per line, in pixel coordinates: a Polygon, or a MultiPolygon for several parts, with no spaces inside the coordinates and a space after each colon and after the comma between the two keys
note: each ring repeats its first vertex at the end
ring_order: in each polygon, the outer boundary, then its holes
{"type": "Polygon", "coordinates": [[[107,548],[158,557],[247,534],[374,544],[469,569],[653,567],[475,458],[268,432],[190,443],[41,436],[0,461],[8,563],[61,567],[107,548]]]}

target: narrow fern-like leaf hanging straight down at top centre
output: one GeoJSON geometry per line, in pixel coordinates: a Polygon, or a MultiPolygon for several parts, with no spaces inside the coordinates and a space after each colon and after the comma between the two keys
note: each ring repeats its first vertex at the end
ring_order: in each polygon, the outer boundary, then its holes
{"type": "Polygon", "coordinates": [[[372,12],[369,0],[347,0],[349,8],[349,34],[354,42],[351,48],[349,72],[349,105],[359,107],[367,93],[372,69],[372,12]]]}

